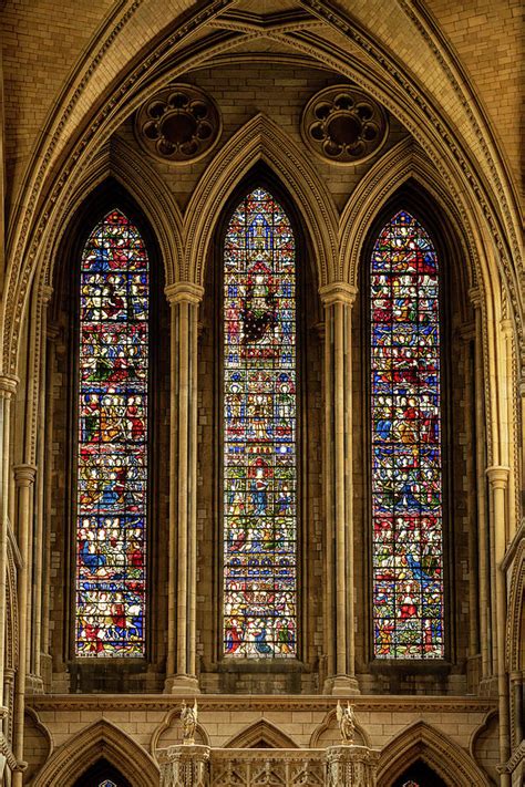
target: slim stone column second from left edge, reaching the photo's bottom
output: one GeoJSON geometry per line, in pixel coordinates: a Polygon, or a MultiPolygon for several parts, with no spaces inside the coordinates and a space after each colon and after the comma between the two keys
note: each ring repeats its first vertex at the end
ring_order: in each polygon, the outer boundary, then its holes
{"type": "MultiPolygon", "coordinates": [[[[19,763],[23,760],[23,712],[25,700],[27,672],[29,667],[28,635],[30,620],[29,607],[29,561],[31,555],[31,497],[33,493],[37,468],[33,465],[17,465],[14,468],[14,483],[18,491],[18,519],[17,535],[19,540],[22,566],[19,571],[19,659],[17,669],[17,687],[14,692],[14,757],[19,763]]],[[[21,787],[22,773],[13,774],[13,787],[21,787]]]]}

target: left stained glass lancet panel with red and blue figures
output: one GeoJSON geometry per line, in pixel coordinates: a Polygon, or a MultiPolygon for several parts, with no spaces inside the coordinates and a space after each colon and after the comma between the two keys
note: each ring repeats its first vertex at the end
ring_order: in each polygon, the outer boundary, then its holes
{"type": "Polygon", "coordinates": [[[76,655],[143,656],[148,259],[119,210],[80,278],[76,655]]]}

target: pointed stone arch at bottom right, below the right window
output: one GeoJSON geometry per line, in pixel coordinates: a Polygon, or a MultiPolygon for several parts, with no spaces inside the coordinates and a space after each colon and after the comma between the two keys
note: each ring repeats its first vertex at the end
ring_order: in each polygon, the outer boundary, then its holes
{"type": "Polygon", "coordinates": [[[449,787],[490,787],[472,757],[426,722],[414,722],[384,746],[378,765],[378,785],[392,787],[406,767],[418,760],[426,763],[449,787]]]}

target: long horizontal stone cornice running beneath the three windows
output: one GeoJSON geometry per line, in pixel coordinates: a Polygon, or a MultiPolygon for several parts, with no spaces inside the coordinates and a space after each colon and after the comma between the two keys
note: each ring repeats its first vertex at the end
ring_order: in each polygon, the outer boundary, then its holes
{"type": "MultiPolygon", "coordinates": [[[[40,694],[27,697],[35,711],[113,711],[155,710],[179,707],[182,701],[194,695],[168,694],[40,694]]],[[[337,706],[341,697],[331,695],[231,695],[200,694],[198,708],[205,711],[316,711],[326,713],[337,706]]],[[[356,711],[414,712],[414,713],[488,713],[497,707],[497,698],[463,696],[352,696],[356,711]]]]}

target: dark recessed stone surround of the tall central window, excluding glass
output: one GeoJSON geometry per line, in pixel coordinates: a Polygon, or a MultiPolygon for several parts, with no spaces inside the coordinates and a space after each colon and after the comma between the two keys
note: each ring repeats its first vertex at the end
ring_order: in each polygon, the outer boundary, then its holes
{"type": "MultiPolygon", "coordinates": [[[[212,288],[216,293],[214,298],[214,312],[210,327],[214,333],[214,343],[217,348],[215,355],[215,381],[214,381],[214,410],[216,413],[214,424],[214,463],[217,468],[214,483],[214,577],[216,587],[216,598],[214,599],[213,614],[213,654],[219,672],[226,669],[233,672],[257,673],[259,671],[278,673],[300,673],[308,661],[315,659],[312,633],[308,623],[308,588],[309,569],[308,555],[305,543],[308,542],[308,498],[307,484],[305,481],[308,472],[308,460],[306,447],[308,445],[308,434],[306,431],[305,413],[308,407],[309,392],[305,376],[305,349],[307,341],[306,288],[312,286],[312,298],[318,303],[317,296],[317,273],[313,265],[313,257],[310,250],[309,234],[306,229],[301,216],[300,207],[296,205],[294,198],[284,186],[279,175],[265,163],[257,163],[233,188],[225,201],[218,221],[215,227],[215,240],[206,271],[206,290],[212,288]],[[285,210],[295,237],[296,242],[296,320],[297,320],[297,656],[295,659],[233,659],[223,653],[223,548],[224,548],[224,517],[223,517],[223,266],[224,266],[224,240],[228,224],[233,213],[254,188],[261,187],[268,190],[285,210]]],[[[206,299],[206,297],[205,297],[206,299]]],[[[316,317],[309,315],[310,322],[317,324],[320,321],[320,308],[317,306],[316,317]]],[[[209,321],[208,321],[209,322],[209,321]]],[[[205,322],[205,330],[208,323],[205,322]]],[[[311,392],[310,392],[311,393],[311,392]]]]}

